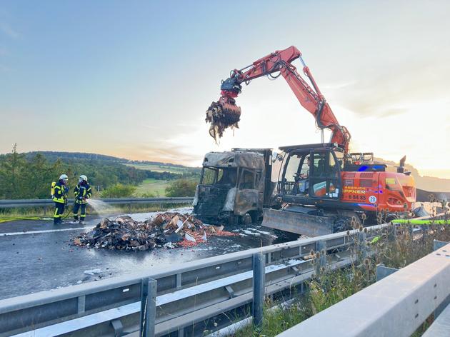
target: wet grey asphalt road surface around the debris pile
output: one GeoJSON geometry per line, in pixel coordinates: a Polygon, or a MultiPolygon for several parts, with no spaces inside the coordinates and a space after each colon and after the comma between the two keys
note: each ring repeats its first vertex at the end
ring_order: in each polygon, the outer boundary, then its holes
{"type": "MultiPolygon", "coordinates": [[[[151,213],[131,215],[136,220],[151,213]]],[[[253,225],[226,228],[241,233],[236,237],[212,237],[194,248],[154,251],[111,251],[73,246],[71,238],[99,223],[91,218],[86,225],[52,221],[0,223],[0,299],[50,290],[76,283],[133,273],[159,266],[241,251],[248,248],[295,240],[297,236],[253,225]],[[89,275],[85,271],[99,269],[89,275]]]]}

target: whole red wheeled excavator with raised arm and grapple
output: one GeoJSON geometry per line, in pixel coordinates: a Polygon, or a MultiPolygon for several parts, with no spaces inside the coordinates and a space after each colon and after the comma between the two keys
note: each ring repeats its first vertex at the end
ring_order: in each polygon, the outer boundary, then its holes
{"type": "Polygon", "coordinates": [[[238,127],[241,108],[236,97],[242,83],[280,75],[316,119],[321,143],[279,148],[284,151],[277,183],[281,209],[264,208],[263,225],[309,236],[324,235],[409,213],[416,201],[416,188],[414,178],[404,169],[405,157],[398,167],[388,167],[374,162],[372,153],[349,153],[349,131],[337,121],[295,46],[231,71],[229,79],[221,83],[219,101],[206,111],[206,121],[211,123],[209,134],[217,140],[226,128],[238,127]],[[311,86],[292,64],[296,59],[311,86]],[[324,129],[331,130],[327,143],[324,129]]]}

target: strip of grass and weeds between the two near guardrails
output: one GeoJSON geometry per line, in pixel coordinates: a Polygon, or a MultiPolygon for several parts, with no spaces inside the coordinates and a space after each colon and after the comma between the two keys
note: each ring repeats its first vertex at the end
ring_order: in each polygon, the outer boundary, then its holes
{"type": "MultiPolygon", "coordinates": [[[[405,224],[399,227],[396,241],[389,240],[387,231],[382,233],[375,242],[371,243],[371,248],[375,251],[373,256],[359,260],[358,263],[340,271],[322,270],[319,276],[307,284],[306,288],[309,291],[296,294],[296,289],[292,288],[293,296],[291,297],[294,297],[294,300],[288,302],[289,304],[280,305],[288,298],[281,298],[277,301],[267,299],[262,325],[256,327],[250,324],[236,331],[234,336],[276,336],[370,286],[376,281],[377,264],[382,263],[391,268],[403,268],[431,253],[434,239],[450,241],[449,226],[431,225],[423,236],[415,237],[411,235],[410,226],[405,224]]],[[[357,254],[358,252],[353,253],[357,254]]],[[[421,336],[432,321],[433,317],[428,318],[413,336],[421,336]]]]}

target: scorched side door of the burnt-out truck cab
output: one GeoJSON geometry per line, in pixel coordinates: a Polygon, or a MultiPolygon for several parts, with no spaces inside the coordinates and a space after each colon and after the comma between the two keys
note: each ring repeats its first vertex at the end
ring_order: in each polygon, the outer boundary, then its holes
{"type": "Polygon", "coordinates": [[[240,169],[239,171],[234,214],[244,216],[245,213],[258,209],[260,196],[259,189],[255,187],[256,172],[249,169],[240,169]]]}

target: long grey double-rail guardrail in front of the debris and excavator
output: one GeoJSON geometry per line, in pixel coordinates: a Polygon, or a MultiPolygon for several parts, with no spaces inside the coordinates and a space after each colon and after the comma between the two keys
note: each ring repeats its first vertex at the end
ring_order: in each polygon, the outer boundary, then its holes
{"type": "Polygon", "coordinates": [[[141,303],[151,297],[147,291],[143,299],[142,285],[147,284],[149,289],[149,278],[157,284],[156,319],[152,322],[155,336],[184,336],[188,327],[187,336],[201,336],[205,330],[217,331],[233,323],[235,317],[246,316],[252,303],[254,314],[259,314],[254,293],[258,297],[265,293],[289,298],[303,292],[304,282],[321,267],[344,268],[356,258],[368,256],[371,251],[367,241],[388,226],[306,238],[133,276],[7,298],[0,301],[0,336],[114,336],[139,331],[141,303]],[[309,259],[311,251],[320,252],[320,258],[309,259]],[[262,267],[255,268],[255,254],[262,254],[262,267]],[[261,276],[261,268],[265,282],[255,276],[255,271],[261,276]]]}

